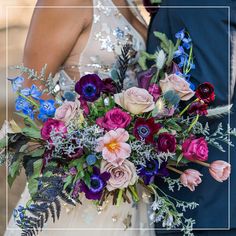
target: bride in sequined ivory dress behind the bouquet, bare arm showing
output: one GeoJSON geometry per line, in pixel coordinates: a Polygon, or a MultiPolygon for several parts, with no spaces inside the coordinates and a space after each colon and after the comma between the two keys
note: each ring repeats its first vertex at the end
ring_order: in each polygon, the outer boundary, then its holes
{"type": "MultiPolygon", "coordinates": [[[[128,42],[135,51],[144,50],[146,33],[145,22],[132,1],[39,0],[23,62],[36,71],[47,64],[47,72],[57,74],[61,87],[66,89],[73,80],[87,73],[109,77],[121,46],[128,42]]],[[[135,83],[131,80],[128,84],[135,83]]],[[[28,199],[26,188],[18,205],[25,205],[28,199]]],[[[99,209],[85,199],[82,202],[83,205],[74,208],[63,206],[60,219],[56,223],[48,222],[39,235],[154,234],[148,229],[147,201],[141,201],[138,206],[123,203],[117,207],[108,200],[99,209]]],[[[12,216],[5,236],[20,233],[12,216]]]]}

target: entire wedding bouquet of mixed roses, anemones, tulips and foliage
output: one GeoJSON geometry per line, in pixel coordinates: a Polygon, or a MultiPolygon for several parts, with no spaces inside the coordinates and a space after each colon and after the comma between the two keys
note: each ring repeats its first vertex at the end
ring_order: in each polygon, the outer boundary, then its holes
{"type": "MultiPolygon", "coordinates": [[[[207,123],[199,122],[200,116],[222,115],[230,107],[210,109],[213,85],[205,82],[195,89],[190,82],[194,63],[189,35],[178,32],[175,44],[162,33],[155,35],[161,48],[153,55],[142,53],[143,71],[135,87],[123,87],[132,57],[130,45],[123,47],[111,78],[87,74],[67,91],[61,91],[51,75],[45,78],[45,68],[37,74],[17,67],[42,84],[24,88],[23,77],[11,79],[17,115],[24,125],[7,123],[7,136],[0,142],[8,151],[9,185],[22,168],[27,176],[31,199],[14,211],[22,235],[36,234],[49,215],[53,221],[59,218],[61,201],[83,204],[81,196],[98,207],[108,198],[119,206],[147,196],[152,223],[192,235],[194,219],[186,219],[183,212],[198,204],[168,196],[154,179],[163,178],[172,191],[175,185],[194,191],[202,181],[199,171],[188,169],[194,162],[209,168],[217,181],[226,180],[230,164],[207,163],[208,145],[224,151],[220,142],[233,146],[229,136],[236,130],[227,127],[223,132],[219,125],[211,132],[207,123]],[[147,61],[154,63],[148,67],[147,61]],[[45,93],[51,98],[44,100],[45,93]],[[170,178],[170,171],[180,177],[170,178]]],[[[4,158],[2,151],[2,163],[4,158]]]]}

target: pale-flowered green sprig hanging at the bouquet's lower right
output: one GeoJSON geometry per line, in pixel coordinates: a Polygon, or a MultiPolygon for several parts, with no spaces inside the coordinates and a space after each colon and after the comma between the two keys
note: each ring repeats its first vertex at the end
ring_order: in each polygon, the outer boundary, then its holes
{"type": "Polygon", "coordinates": [[[150,220],[151,224],[162,222],[162,227],[167,229],[180,229],[185,236],[193,236],[193,225],[195,220],[185,218],[183,211],[186,209],[194,209],[197,203],[188,203],[177,200],[165,194],[158,187],[152,188],[155,200],[151,204],[150,220]],[[160,193],[158,193],[160,192],[160,193]],[[180,211],[177,210],[180,208],[180,211]]]}

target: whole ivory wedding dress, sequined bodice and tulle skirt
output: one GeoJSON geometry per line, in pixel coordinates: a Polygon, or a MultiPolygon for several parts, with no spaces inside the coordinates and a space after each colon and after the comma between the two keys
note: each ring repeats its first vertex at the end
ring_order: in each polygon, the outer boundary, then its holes
{"type": "MultiPolygon", "coordinates": [[[[132,4],[132,2],[130,2],[132,4]]],[[[70,81],[66,76],[69,72],[80,75],[98,73],[101,78],[110,77],[112,66],[122,45],[133,44],[135,51],[145,49],[145,42],[136,29],[120,13],[112,0],[93,0],[93,24],[87,46],[78,56],[76,46],[64,64],[64,70],[60,75],[60,85],[66,90],[70,87],[70,81]],[[76,72],[75,72],[76,73],[76,72]]],[[[140,21],[143,21],[137,8],[132,8],[140,21]]],[[[79,20],[79,19],[78,19],[79,20]]],[[[144,22],[144,21],[143,21],[144,22]]],[[[130,72],[127,83],[132,81],[130,72]]],[[[18,205],[25,205],[29,199],[27,188],[22,194],[18,205]]],[[[71,207],[63,205],[60,219],[55,223],[49,221],[39,235],[49,236],[152,236],[154,231],[150,229],[148,217],[148,203],[141,197],[140,203],[135,206],[122,203],[120,207],[114,206],[111,199],[101,208],[81,199],[83,205],[71,207]],[[128,227],[128,229],[126,229],[128,227]]],[[[17,236],[21,231],[11,217],[5,236],[17,236]]]]}

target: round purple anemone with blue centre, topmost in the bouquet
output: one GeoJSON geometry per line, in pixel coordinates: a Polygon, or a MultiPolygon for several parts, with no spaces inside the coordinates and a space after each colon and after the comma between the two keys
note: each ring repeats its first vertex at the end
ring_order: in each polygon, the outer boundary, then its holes
{"type": "Polygon", "coordinates": [[[75,84],[75,91],[88,102],[96,101],[100,97],[102,88],[102,80],[96,74],[85,75],[75,84]]]}

